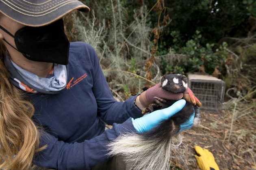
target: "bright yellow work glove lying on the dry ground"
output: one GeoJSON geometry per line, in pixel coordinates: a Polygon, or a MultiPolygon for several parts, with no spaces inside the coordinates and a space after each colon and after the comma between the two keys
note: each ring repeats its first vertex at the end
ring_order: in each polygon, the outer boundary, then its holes
{"type": "Polygon", "coordinates": [[[201,170],[219,170],[217,163],[215,162],[213,154],[207,149],[202,149],[200,146],[194,146],[197,165],[201,170]]]}

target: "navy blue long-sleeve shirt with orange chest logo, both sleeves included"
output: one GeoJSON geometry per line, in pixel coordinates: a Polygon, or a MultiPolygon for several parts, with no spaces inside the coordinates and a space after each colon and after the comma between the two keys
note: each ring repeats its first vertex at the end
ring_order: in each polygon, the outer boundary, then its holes
{"type": "Polygon", "coordinates": [[[71,43],[67,87],[59,94],[31,94],[33,120],[44,128],[36,165],[60,170],[89,170],[108,159],[106,144],[123,132],[136,132],[131,117],[141,117],[136,96],[116,102],[93,48],[71,43]],[[113,124],[104,131],[105,123],[113,124]]]}

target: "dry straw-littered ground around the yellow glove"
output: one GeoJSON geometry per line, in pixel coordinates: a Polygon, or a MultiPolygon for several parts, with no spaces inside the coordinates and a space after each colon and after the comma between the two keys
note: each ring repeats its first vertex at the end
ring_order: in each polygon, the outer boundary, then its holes
{"type": "Polygon", "coordinates": [[[172,159],[171,169],[199,169],[198,145],[213,153],[220,170],[256,170],[256,100],[229,104],[221,113],[202,112],[200,125],[181,133],[183,156],[172,159]]]}

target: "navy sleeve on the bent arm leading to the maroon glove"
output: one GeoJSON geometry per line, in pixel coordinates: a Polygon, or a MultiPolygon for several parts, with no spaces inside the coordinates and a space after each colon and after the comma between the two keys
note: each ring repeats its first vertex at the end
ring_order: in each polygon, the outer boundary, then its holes
{"type": "Polygon", "coordinates": [[[98,105],[98,115],[101,119],[107,124],[112,125],[113,123],[122,123],[129,117],[136,119],[143,116],[141,110],[134,105],[137,96],[131,96],[124,102],[116,102],[114,100],[100,67],[97,54],[92,47],[89,51],[94,69],[92,90],[98,105]]]}

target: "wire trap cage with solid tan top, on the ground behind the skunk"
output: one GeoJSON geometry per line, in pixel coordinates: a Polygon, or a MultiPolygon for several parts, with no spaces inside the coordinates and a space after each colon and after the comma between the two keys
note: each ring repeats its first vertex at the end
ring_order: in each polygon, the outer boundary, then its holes
{"type": "Polygon", "coordinates": [[[225,82],[210,75],[189,74],[189,88],[202,103],[201,110],[219,113],[225,94],[225,82]]]}

